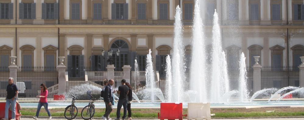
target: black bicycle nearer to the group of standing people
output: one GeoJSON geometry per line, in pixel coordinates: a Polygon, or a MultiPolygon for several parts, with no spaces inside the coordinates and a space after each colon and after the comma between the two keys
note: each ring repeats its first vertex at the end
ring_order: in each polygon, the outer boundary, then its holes
{"type": "Polygon", "coordinates": [[[82,111],[81,111],[81,117],[85,120],[91,119],[94,116],[95,113],[95,105],[94,105],[94,101],[96,101],[97,99],[94,98],[92,95],[89,94],[90,98],[90,102],[89,105],[85,106],[82,111]]]}

